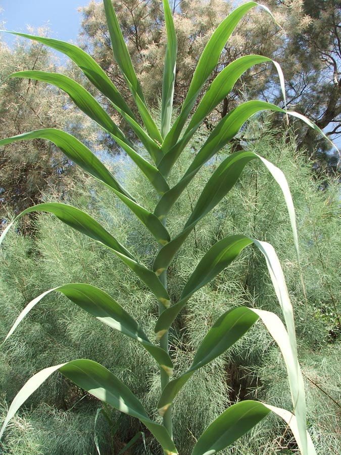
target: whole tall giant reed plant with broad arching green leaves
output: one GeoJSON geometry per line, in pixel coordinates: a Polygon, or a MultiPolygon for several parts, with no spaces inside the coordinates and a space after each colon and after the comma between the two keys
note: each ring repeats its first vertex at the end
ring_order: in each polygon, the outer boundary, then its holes
{"type": "MultiPolygon", "coordinates": [[[[45,295],[51,292],[64,294],[70,301],[83,308],[102,323],[138,342],[154,358],[160,366],[162,391],[157,407],[161,416],[163,416],[163,423],[160,424],[152,420],[145,411],[142,403],[130,389],[109,370],[92,360],[76,359],[62,363],[61,365],[48,367],[36,373],[27,381],[10,406],[0,436],[25,400],[50,375],[58,370],[66,378],[96,398],[99,398],[123,413],[139,419],[155,436],[164,453],[168,455],[176,454],[178,451],[172,438],[171,405],[174,398],[194,372],[223,354],[260,319],[278,344],[283,355],[294,413],[253,400],[245,400],[233,404],[215,419],[199,437],[193,447],[192,455],[208,455],[224,449],[252,429],[270,412],[279,415],[291,428],[303,455],[314,455],[316,453],[306,430],[305,391],[297,356],[293,308],[289,300],[280,263],[272,246],[245,235],[234,234],[227,236],[216,242],[202,257],[186,281],[178,301],[171,302],[167,291],[167,270],[179,248],[194,228],[196,228],[198,222],[233,188],[243,168],[253,160],[260,160],[266,166],[282,190],[299,260],[295,211],[285,177],[277,167],[251,151],[236,152],[224,159],[202,189],[195,206],[189,213],[183,229],[172,239],[167,231],[167,215],[170,208],[202,166],[238,133],[243,123],[252,115],[264,110],[293,115],[301,118],[322,134],[321,130],[298,113],[289,112],[286,109],[281,109],[262,101],[246,102],[232,110],[217,124],[199,152],[194,156],[183,176],[174,186],[169,186],[169,175],[172,167],[177,162],[177,159],[189,143],[193,134],[198,130],[205,117],[228,95],[237,79],[251,66],[265,62],[275,65],[279,74],[285,101],[283,76],[278,64],[269,58],[251,55],[241,57],[224,68],[208,88],[194,114],[190,116],[192,108],[196,104],[208,76],[218,63],[219,56],[230,34],[240,19],[250,9],[257,6],[259,5],[255,2],[249,2],[240,6],[212,34],[193,74],[181,111],[171,126],[177,42],[169,4],[167,0],[164,0],[163,7],[168,44],[165,55],[162,87],[161,130],[158,129],[147,103],[145,103],[141,86],[132,66],[110,0],[104,0],[104,7],[114,56],[132,93],[139,118],[142,122],[131,111],[116,86],[100,66],[81,49],[56,39],[17,33],[20,36],[46,44],[70,57],[83,71],[89,81],[108,98],[117,112],[126,120],[140,144],[148,152],[150,159],[144,158],[137,152],[134,144],[118,128],[96,99],[74,80],[61,74],[40,71],[21,71],[13,73],[11,77],[24,77],[44,81],[52,83],[64,90],[76,106],[98,123],[106,133],[110,134],[138,166],[144,177],[149,180],[154,188],[158,202],[154,212],[139,205],[138,201],[135,200],[127,189],[122,187],[115,176],[88,148],[64,131],[51,128],[31,131],[4,139],[0,141],[0,145],[4,146],[15,141],[26,141],[29,139],[46,139],[55,143],[70,160],[81,166],[83,170],[109,188],[131,210],[154,236],[159,249],[152,268],[148,268],[139,262],[98,221],[84,211],[62,203],[47,202],[30,207],[18,215],[13,223],[21,216],[33,211],[52,213],[61,221],[71,226],[71,228],[109,248],[152,291],[158,301],[159,318],[155,326],[155,332],[160,343],[155,344],[151,342],[143,331],[143,321],[141,324],[137,323],[110,295],[99,288],[81,283],[59,286],[47,290],[33,299],[21,312],[7,338],[20,324],[24,316],[45,295]],[[207,332],[188,370],[175,379],[171,379],[174,366],[169,353],[168,334],[174,320],[194,293],[213,280],[244,248],[251,244],[257,247],[265,256],[285,325],[277,315],[265,310],[243,306],[232,308],[221,314],[207,332]]],[[[265,7],[262,8],[266,13],[270,13],[265,7]]],[[[7,226],[0,241],[3,240],[13,223],[7,226]]],[[[190,403],[188,405],[190,406],[190,403]]]]}

